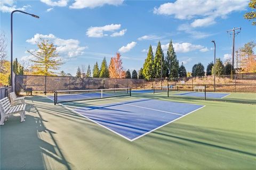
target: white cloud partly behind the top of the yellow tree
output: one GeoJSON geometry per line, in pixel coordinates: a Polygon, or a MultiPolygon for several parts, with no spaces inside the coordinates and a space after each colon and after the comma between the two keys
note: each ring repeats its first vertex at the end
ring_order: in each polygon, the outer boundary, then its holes
{"type": "Polygon", "coordinates": [[[33,38],[27,39],[26,42],[30,44],[36,44],[36,42],[42,39],[49,39],[53,42],[54,45],[57,46],[57,51],[61,55],[66,55],[68,58],[73,58],[74,56],[82,55],[84,50],[88,48],[87,46],[79,46],[79,41],[77,39],[61,39],[53,34],[49,35],[42,35],[42,34],[35,34],[33,38]]]}

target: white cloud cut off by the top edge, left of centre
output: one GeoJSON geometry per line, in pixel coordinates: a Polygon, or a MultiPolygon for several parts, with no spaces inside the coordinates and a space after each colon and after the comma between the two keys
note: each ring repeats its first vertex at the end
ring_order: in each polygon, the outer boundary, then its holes
{"type": "Polygon", "coordinates": [[[85,0],[75,0],[75,2],[69,6],[71,9],[83,9],[90,8],[94,9],[95,7],[101,7],[103,5],[122,5],[124,0],[93,0],[93,1],[85,1],[85,0]]]}

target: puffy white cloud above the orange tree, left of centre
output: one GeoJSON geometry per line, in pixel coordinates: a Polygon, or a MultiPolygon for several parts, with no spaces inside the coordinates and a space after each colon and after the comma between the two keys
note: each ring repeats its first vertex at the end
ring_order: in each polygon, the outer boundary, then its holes
{"type": "Polygon", "coordinates": [[[86,31],[86,35],[88,37],[103,37],[108,36],[107,34],[104,34],[104,31],[115,31],[121,28],[121,24],[111,24],[106,25],[103,27],[90,27],[86,31]]]}

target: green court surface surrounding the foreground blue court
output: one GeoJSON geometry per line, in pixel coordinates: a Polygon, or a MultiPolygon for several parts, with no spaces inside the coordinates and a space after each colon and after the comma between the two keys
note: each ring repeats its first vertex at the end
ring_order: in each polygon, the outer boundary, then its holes
{"type": "Polygon", "coordinates": [[[27,97],[26,122],[15,115],[0,127],[1,169],[255,169],[255,101],[252,93],[206,101],[157,93],[64,107],[27,97]],[[70,110],[142,98],[205,107],[132,142],[70,110]]]}

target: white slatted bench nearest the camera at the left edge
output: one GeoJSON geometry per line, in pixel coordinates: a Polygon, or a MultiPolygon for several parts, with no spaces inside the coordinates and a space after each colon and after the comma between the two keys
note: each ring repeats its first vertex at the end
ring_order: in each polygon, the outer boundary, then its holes
{"type": "Polygon", "coordinates": [[[24,119],[26,117],[25,107],[26,107],[26,104],[11,106],[11,103],[7,97],[4,99],[1,99],[0,100],[0,112],[1,112],[0,125],[4,125],[4,120],[6,120],[7,117],[14,114],[20,114],[20,118],[21,118],[20,122],[25,122],[25,119],[24,119]]]}

